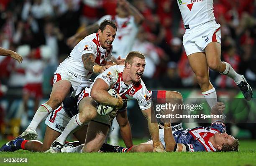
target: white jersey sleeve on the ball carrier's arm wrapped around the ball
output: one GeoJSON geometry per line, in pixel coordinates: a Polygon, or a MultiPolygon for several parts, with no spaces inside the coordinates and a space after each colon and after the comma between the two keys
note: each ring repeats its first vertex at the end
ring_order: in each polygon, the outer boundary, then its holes
{"type": "MultiPolygon", "coordinates": [[[[105,83],[108,84],[108,86],[113,85],[113,83],[115,83],[115,80],[116,80],[116,70],[115,70],[115,66],[111,66],[110,68],[108,68],[107,70],[105,70],[103,73],[101,73],[100,75],[98,75],[97,78],[101,78],[102,80],[104,80],[105,83]]],[[[96,80],[97,78],[95,78],[95,80],[96,80]]]]}

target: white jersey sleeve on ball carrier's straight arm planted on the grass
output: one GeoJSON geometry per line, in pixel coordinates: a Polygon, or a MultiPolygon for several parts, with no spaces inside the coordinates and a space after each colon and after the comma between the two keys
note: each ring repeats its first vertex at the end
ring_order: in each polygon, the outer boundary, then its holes
{"type": "Polygon", "coordinates": [[[136,93],[136,96],[134,97],[138,101],[138,106],[141,110],[151,108],[152,99],[145,85],[142,86],[142,88],[136,93]]]}

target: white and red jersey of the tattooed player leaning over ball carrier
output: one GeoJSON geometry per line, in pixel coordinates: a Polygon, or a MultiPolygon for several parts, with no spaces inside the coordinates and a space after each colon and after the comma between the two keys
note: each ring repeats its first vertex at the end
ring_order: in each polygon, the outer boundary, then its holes
{"type": "Polygon", "coordinates": [[[65,70],[79,78],[89,80],[92,72],[84,69],[82,55],[93,54],[95,55],[95,63],[103,65],[107,61],[112,60],[111,53],[112,45],[110,48],[102,48],[100,46],[98,33],[93,33],[85,37],[73,48],[69,57],[59,65],[58,69],[65,70]]]}

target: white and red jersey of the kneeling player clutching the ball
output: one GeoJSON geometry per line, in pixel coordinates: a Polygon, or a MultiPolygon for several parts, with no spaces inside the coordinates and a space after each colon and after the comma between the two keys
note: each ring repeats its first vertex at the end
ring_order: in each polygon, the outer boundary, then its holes
{"type": "MultiPolygon", "coordinates": [[[[119,95],[125,99],[135,99],[141,110],[151,107],[151,95],[148,92],[142,80],[131,85],[125,85],[123,82],[124,65],[114,65],[98,75],[96,79],[101,78],[110,88],[113,88],[119,95]]],[[[92,88],[93,84],[90,86],[92,88]]]]}

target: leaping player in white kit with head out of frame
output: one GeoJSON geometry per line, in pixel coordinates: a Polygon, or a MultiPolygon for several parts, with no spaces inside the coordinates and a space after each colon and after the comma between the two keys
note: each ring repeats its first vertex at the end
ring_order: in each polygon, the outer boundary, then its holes
{"type": "Polygon", "coordinates": [[[209,80],[208,67],[232,78],[246,100],[251,100],[253,93],[245,77],[220,60],[220,24],[215,21],[213,0],[177,0],[177,3],[186,29],[183,45],[209,106],[212,108],[217,103],[217,95],[209,80]]]}

